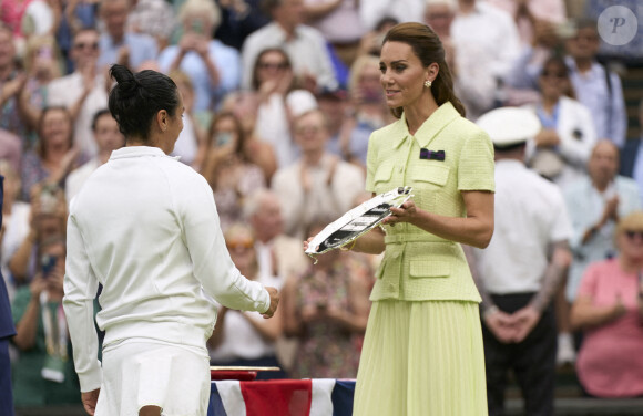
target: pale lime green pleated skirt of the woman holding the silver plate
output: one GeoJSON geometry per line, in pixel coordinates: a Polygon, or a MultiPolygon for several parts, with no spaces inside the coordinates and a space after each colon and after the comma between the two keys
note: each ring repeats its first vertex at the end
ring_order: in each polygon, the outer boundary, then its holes
{"type": "Polygon", "coordinates": [[[357,373],[353,414],[487,415],[478,304],[374,302],[357,373]]]}

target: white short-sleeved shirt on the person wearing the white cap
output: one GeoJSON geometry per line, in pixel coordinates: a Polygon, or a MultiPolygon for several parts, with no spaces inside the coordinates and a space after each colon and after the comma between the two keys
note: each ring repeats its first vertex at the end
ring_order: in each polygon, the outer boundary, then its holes
{"type": "Polygon", "coordinates": [[[474,249],[489,293],[538,292],[550,243],[572,228],[559,187],[518,160],[496,163],[496,230],[489,247],[474,249]]]}

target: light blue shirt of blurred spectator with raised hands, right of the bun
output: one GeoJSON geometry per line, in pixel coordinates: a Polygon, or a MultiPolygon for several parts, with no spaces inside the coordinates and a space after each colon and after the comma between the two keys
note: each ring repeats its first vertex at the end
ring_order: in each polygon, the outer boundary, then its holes
{"type": "MultiPolygon", "coordinates": [[[[241,81],[241,56],[236,49],[224,45],[221,41],[210,42],[210,59],[218,70],[220,83],[213,85],[210,81],[207,66],[201,56],[190,51],[181,61],[181,71],[185,72],[194,85],[194,111],[205,111],[215,107],[228,92],[236,90],[241,81]]],[[[178,55],[177,45],[167,46],[159,56],[159,65],[164,73],[170,72],[170,65],[178,55]]]]}

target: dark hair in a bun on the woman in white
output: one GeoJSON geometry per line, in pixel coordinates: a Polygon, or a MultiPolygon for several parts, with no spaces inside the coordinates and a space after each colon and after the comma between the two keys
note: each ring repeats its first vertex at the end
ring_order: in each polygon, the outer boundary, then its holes
{"type": "Polygon", "coordinates": [[[150,126],[161,110],[172,117],[178,106],[176,84],[156,71],[132,73],[126,66],[114,64],[110,76],[116,85],[110,92],[109,108],[125,136],[142,142],[150,138],[150,126]]]}

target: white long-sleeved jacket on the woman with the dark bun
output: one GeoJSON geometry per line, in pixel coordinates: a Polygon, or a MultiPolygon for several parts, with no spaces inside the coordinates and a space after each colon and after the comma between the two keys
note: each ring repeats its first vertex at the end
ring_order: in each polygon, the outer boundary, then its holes
{"type": "Polygon", "coordinates": [[[136,337],[205,349],[216,321],[207,295],[268,309],[268,292],[232,262],[212,190],[191,167],[156,147],[123,147],[85,185],[70,207],[63,300],[82,392],[101,386],[99,283],[104,345],[136,337]]]}

